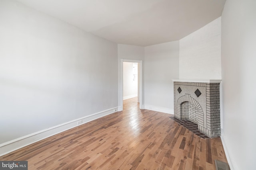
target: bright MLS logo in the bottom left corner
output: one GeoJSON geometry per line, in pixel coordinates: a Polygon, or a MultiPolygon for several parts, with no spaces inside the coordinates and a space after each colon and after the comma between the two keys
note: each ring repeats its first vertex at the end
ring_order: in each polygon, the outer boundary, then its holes
{"type": "Polygon", "coordinates": [[[28,170],[28,161],[0,161],[0,170],[28,170]]]}

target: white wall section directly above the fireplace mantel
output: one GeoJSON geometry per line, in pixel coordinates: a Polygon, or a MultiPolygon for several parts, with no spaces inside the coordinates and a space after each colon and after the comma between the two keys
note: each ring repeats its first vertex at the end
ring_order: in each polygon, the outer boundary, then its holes
{"type": "Polygon", "coordinates": [[[221,79],[221,17],[180,39],[180,79],[221,79]]]}

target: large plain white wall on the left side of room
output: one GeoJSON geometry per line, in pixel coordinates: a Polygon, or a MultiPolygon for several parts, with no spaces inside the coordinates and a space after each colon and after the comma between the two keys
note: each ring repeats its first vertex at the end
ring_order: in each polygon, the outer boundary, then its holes
{"type": "Polygon", "coordinates": [[[0,1],[0,144],[118,105],[117,44],[0,1]]]}

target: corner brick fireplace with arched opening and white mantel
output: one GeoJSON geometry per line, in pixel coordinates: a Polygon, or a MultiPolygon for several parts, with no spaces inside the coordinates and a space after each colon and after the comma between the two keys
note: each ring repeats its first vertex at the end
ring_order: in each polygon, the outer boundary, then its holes
{"type": "Polygon", "coordinates": [[[190,120],[208,137],[220,136],[221,80],[173,80],[174,117],[190,120]]]}

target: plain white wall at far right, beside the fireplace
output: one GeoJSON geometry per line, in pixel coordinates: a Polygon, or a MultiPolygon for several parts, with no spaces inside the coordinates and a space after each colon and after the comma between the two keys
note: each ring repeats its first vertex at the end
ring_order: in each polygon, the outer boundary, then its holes
{"type": "Polygon", "coordinates": [[[227,0],[222,12],[222,143],[233,170],[255,169],[255,9],[255,0],[227,0]]]}

